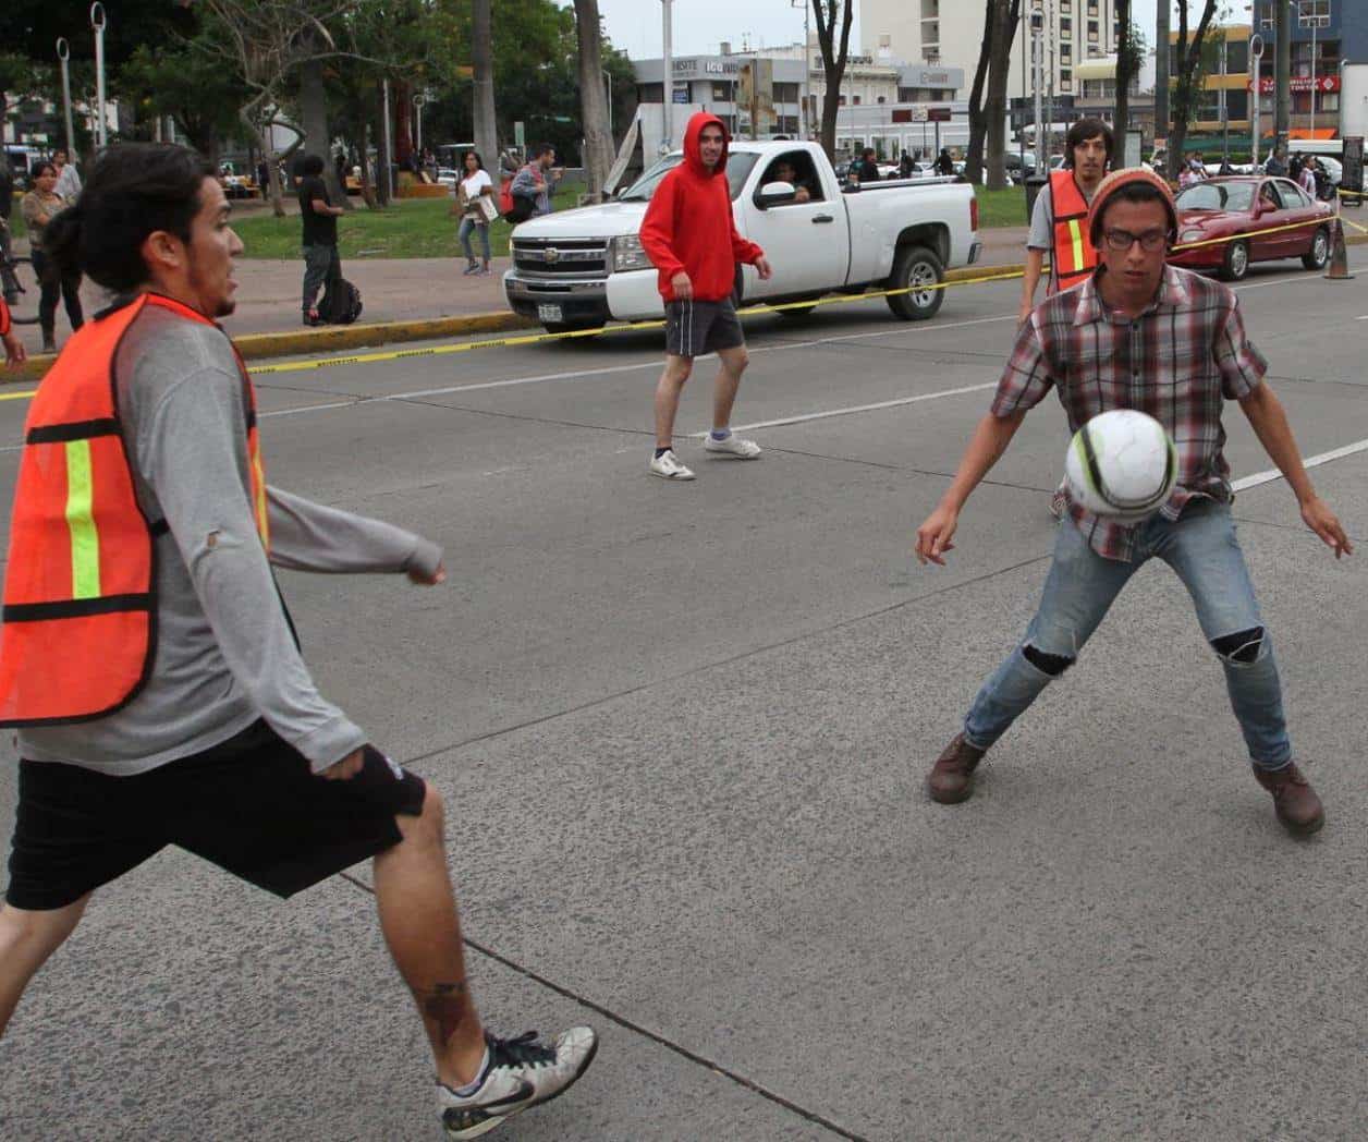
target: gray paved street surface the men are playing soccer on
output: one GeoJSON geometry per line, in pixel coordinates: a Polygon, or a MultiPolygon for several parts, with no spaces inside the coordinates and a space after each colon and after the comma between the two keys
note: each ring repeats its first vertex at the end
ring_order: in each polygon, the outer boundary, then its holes
{"type": "MultiPolygon", "coordinates": [[[[1368,441],[1364,248],[1350,264],[1239,290],[1308,457],[1368,441]]],[[[446,797],[487,1022],[603,1037],[492,1138],[1368,1132],[1368,451],[1312,472],[1353,559],[1280,479],[1235,505],[1319,837],[1274,822],[1157,563],[974,800],[925,800],[1053,540],[1051,400],[949,566],[910,555],[1018,290],[953,289],[929,323],[882,301],[754,319],[736,422],[765,456],[688,441],[687,485],[646,472],[657,331],[260,377],[274,483],[446,548],[436,590],[280,578],[324,693],[446,797]]],[[[25,408],[0,403],[4,503],[25,408]]],[[[1226,423],[1237,477],[1272,467],[1226,423]]],[[[0,765],[4,837],[14,798],[0,765]]],[[[166,852],[103,890],[0,1042],[0,1137],[436,1137],[368,882],[285,905],[166,852]]]]}

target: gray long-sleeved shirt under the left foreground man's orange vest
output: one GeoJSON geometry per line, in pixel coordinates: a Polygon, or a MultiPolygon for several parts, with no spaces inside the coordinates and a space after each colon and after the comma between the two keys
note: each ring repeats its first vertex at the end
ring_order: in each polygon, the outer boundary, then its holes
{"type": "Polygon", "coordinates": [[[107,718],[21,730],[21,756],[126,776],[219,745],[261,718],[315,772],[326,770],[367,737],[315,687],[271,564],[431,575],[440,549],[271,487],[268,560],[252,509],[246,407],[227,335],[148,307],[124,337],[115,371],[138,501],[149,520],[168,524],[155,541],[152,675],[107,718]]]}

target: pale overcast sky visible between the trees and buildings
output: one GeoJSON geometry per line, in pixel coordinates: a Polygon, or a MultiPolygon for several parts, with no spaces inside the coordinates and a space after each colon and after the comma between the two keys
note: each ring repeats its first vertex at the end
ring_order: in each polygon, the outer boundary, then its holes
{"type": "MultiPolygon", "coordinates": [[[[969,0],[958,0],[969,3],[969,0]]],[[[1155,38],[1155,0],[1133,0],[1134,19],[1155,38]]],[[[1242,7],[1237,0],[1237,7],[1242,7]]],[[[599,0],[599,14],[613,44],[633,59],[661,55],[659,0],[599,0]]],[[[851,48],[859,45],[859,3],[851,48]]],[[[720,40],[729,40],[733,51],[750,36],[751,47],[777,47],[803,40],[803,8],[789,0],[674,0],[674,53],[706,55],[717,51],[720,40]]],[[[867,45],[863,45],[867,47],[867,45]]],[[[973,70],[977,60],[945,60],[973,70]]]]}

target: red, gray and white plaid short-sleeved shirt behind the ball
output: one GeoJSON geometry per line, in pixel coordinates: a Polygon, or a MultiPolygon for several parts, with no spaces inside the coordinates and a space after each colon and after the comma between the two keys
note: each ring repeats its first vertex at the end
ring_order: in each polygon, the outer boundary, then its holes
{"type": "MultiPolygon", "coordinates": [[[[1178,519],[1194,496],[1228,501],[1223,403],[1249,396],[1268,371],[1263,353],[1245,337],[1235,294],[1166,266],[1155,301],[1131,320],[1103,303],[1097,282],[1104,272],[1034,309],[997,382],[993,414],[1033,408],[1052,388],[1059,390],[1070,433],[1112,408],[1148,412],[1178,449],[1178,482],[1160,512],[1178,519]]],[[[1094,552],[1131,559],[1135,524],[1096,516],[1073,500],[1068,515],[1094,552]]]]}

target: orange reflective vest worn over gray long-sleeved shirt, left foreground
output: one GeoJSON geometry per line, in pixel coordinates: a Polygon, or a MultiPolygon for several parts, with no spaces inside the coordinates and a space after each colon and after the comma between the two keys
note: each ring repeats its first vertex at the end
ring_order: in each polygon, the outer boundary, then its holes
{"type": "MultiPolygon", "coordinates": [[[[144,293],[73,334],[29,408],[4,581],[0,726],[101,718],[152,674],[155,540],[166,520],[149,520],[138,504],[114,375],[124,333],[149,305],[212,325],[144,293]]],[[[238,371],[253,515],[268,544],[256,394],[241,357],[238,371]]]]}

